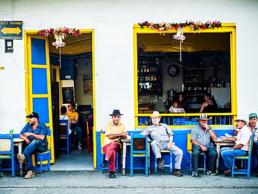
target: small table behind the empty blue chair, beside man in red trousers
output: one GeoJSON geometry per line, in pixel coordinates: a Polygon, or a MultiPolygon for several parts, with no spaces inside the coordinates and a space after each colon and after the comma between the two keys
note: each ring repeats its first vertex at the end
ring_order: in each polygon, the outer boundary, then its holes
{"type": "MultiPolygon", "coordinates": [[[[122,174],[123,176],[126,175],[126,146],[130,146],[131,145],[131,138],[130,136],[128,136],[125,139],[122,139],[121,142],[123,143],[123,149],[122,149],[122,174]]],[[[148,174],[151,175],[151,168],[150,168],[150,156],[151,156],[151,140],[148,140],[148,174]]]]}

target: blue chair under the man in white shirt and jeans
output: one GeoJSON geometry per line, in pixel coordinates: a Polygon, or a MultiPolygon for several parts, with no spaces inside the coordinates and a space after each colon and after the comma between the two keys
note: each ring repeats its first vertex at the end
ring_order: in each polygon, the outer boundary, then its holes
{"type": "Polygon", "coordinates": [[[232,179],[234,179],[235,174],[246,174],[247,179],[250,179],[250,172],[251,172],[251,159],[252,159],[252,142],[254,141],[254,135],[250,137],[250,145],[249,145],[249,150],[248,150],[248,156],[238,156],[238,157],[233,157],[232,161],[232,179]],[[235,170],[235,163],[236,160],[243,160],[245,169],[239,169],[235,170]],[[248,161],[248,164],[246,166],[245,161],[248,161]]]}

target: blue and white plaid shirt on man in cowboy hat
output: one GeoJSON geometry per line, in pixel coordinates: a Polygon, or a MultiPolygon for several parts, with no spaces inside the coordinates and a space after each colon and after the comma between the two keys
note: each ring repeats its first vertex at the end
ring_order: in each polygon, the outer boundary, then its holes
{"type": "MultiPolygon", "coordinates": [[[[210,126],[208,127],[211,129],[210,126]]],[[[202,130],[202,127],[199,124],[192,128],[191,140],[197,140],[199,144],[202,144],[205,147],[214,147],[213,142],[211,142],[211,134],[208,132],[208,130],[205,130],[204,132],[204,130],[202,130]]]]}

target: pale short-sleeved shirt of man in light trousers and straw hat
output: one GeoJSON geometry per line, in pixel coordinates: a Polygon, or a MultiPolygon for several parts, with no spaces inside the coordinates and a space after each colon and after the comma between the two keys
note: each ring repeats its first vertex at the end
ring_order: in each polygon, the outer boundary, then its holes
{"type": "Polygon", "coordinates": [[[157,142],[169,142],[169,136],[174,135],[167,124],[151,125],[144,130],[144,133],[151,135],[151,139],[157,142]]]}

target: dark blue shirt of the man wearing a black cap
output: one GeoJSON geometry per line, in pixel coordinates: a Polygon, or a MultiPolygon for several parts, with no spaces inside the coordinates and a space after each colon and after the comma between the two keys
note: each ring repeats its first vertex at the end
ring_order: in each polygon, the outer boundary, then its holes
{"type": "MultiPolygon", "coordinates": [[[[27,123],[26,126],[24,126],[24,128],[22,129],[21,134],[24,134],[26,132],[35,133],[37,135],[45,135],[45,138],[44,138],[43,142],[47,143],[47,137],[46,137],[47,126],[45,126],[45,124],[38,122],[37,128],[33,131],[31,124],[27,123]]],[[[36,140],[36,138],[33,137],[32,135],[30,135],[28,138],[29,138],[29,140],[31,140],[31,142],[33,140],[36,140]]]]}

